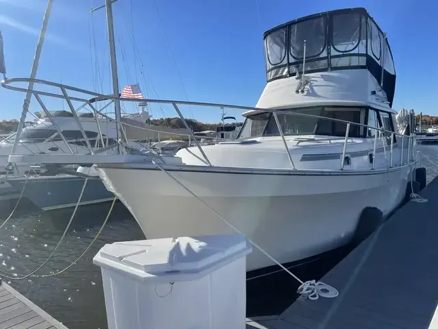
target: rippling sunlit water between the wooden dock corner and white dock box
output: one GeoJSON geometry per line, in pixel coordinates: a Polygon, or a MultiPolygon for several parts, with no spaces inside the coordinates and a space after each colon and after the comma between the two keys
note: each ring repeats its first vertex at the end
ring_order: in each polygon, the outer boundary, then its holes
{"type": "MultiPolygon", "coordinates": [[[[108,210],[109,203],[79,208],[62,245],[37,274],[54,273],[76,260],[96,236],[108,210]]],[[[27,274],[49,257],[73,210],[19,212],[0,229],[0,270],[27,274]]],[[[99,239],[68,271],[46,278],[3,280],[70,329],[107,328],[100,267],[92,264],[92,258],[105,243],[136,239],[144,239],[144,234],[117,202],[99,239]]]]}

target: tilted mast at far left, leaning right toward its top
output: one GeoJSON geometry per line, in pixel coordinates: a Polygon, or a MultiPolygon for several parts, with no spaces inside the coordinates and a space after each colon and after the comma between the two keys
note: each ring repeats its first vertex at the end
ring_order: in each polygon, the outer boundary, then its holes
{"type": "MultiPolygon", "coordinates": [[[[30,80],[29,80],[29,84],[27,85],[27,90],[34,89],[34,81],[33,80],[36,77],[36,71],[38,71],[38,63],[40,62],[42,44],[44,43],[44,36],[46,35],[47,24],[49,23],[49,16],[50,16],[52,7],[53,7],[53,0],[49,0],[47,2],[46,11],[44,12],[44,19],[42,19],[42,27],[40,30],[40,36],[38,37],[38,44],[36,45],[34,62],[32,63],[30,80]]],[[[12,145],[11,154],[15,154],[16,148],[18,147],[18,141],[20,141],[21,131],[23,130],[23,127],[25,125],[27,112],[29,111],[29,104],[30,104],[31,97],[32,97],[31,91],[27,91],[25,101],[23,103],[23,110],[21,112],[20,122],[18,122],[18,128],[16,130],[14,145],[12,145]]]]}

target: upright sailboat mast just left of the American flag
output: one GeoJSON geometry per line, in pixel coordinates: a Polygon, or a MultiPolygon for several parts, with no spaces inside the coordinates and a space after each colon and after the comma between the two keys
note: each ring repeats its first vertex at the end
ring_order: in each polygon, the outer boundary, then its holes
{"type": "Polygon", "coordinates": [[[116,45],[114,42],[114,24],[113,24],[113,16],[112,16],[112,3],[114,0],[105,0],[105,8],[107,13],[107,29],[108,29],[108,42],[110,43],[110,60],[111,60],[111,73],[112,73],[112,88],[114,97],[114,110],[116,112],[116,126],[117,126],[117,140],[119,139],[119,134],[121,134],[121,125],[120,125],[120,91],[118,90],[118,73],[117,73],[117,58],[116,58],[116,45]]]}

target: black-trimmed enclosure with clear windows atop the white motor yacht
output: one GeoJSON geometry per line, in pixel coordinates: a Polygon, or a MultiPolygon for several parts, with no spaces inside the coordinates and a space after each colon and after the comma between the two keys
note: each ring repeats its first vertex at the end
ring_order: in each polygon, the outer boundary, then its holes
{"type": "Polygon", "coordinates": [[[392,106],[396,70],[391,49],[364,8],[305,16],[274,27],[263,37],[268,82],[302,72],[367,69],[392,106]]]}

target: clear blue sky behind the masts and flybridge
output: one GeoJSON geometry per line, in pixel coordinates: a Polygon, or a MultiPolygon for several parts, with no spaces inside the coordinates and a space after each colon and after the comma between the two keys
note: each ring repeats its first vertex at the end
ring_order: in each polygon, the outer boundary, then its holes
{"type": "MultiPolygon", "coordinates": [[[[54,1],[38,78],[111,93],[105,10],[90,14],[91,6],[103,3],[54,1]]],[[[0,0],[8,77],[29,76],[46,5],[46,0],[0,0]]],[[[266,84],[263,32],[300,16],[350,7],[365,7],[387,32],[397,72],[393,107],[438,115],[438,3],[433,0],[119,0],[113,8],[120,86],[138,82],[151,98],[254,106],[266,84]]],[[[23,98],[0,88],[0,119],[18,118],[23,98]]],[[[47,104],[51,110],[66,106],[47,104]]],[[[40,110],[34,100],[31,110],[40,110]]],[[[211,111],[194,116],[219,119],[211,111]]]]}

